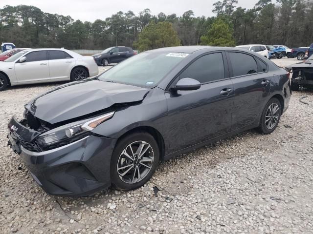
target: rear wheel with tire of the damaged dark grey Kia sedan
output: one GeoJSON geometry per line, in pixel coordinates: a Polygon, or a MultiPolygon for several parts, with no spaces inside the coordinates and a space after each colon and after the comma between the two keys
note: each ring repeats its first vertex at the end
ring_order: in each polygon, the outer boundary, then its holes
{"type": "Polygon", "coordinates": [[[282,114],[281,104],[277,98],[271,98],[265,106],[258,130],[264,134],[272,133],[280,120],[282,114]]]}

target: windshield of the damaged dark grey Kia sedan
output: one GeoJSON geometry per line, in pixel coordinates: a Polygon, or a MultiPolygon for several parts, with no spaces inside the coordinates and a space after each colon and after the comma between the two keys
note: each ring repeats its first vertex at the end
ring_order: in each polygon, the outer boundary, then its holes
{"type": "Polygon", "coordinates": [[[141,53],[112,67],[98,79],[140,87],[153,86],[188,55],[169,52],[141,53]]]}

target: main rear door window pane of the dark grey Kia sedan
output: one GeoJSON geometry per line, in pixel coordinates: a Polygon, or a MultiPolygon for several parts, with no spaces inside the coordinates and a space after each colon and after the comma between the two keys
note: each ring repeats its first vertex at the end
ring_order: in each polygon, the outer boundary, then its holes
{"type": "Polygon", "coordinates": [[[233,70],[233,77],[258,72],[257,63],[252,56],[239,52],[228,52],[228,56],[233,70]]]}

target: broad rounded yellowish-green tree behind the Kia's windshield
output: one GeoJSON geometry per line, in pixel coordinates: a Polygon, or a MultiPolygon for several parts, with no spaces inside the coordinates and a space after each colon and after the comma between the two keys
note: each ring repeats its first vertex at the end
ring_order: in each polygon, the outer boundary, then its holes
{"type": "Polygon", "coordinates": [[[151,50],[161,47],[179,46],[180,40],[170,22],[150,21],[139,34],[135,46],[139,51],[151,50]]]}

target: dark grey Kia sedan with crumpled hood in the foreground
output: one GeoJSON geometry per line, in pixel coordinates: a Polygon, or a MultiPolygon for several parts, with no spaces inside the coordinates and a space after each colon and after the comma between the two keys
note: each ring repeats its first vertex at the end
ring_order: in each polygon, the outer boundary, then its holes
{"type": "Polygon", "coordinates": [[[132,190],[162,160],[251,128],[272,133],[290,97],[289,73],[257,53],[160,48],[29,101],[25,119],[9,120],[9,145],[48,194],[132,190]]]}

